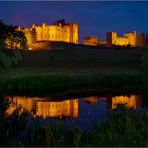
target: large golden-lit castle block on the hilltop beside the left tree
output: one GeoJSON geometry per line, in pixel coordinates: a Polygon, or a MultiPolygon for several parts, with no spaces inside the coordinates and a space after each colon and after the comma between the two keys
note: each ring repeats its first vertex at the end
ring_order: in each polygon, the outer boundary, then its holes
{"type": "Polygon", "coordinates": [[[65,20],[58,20],[53,25],[33,24],[31,28],[24,28],[22,31],[25,33],[29,48],[42,48],[42,46],[44,48],[49,41],[78,44],[78,25],[72,22],[65,23],[65,20]]]}

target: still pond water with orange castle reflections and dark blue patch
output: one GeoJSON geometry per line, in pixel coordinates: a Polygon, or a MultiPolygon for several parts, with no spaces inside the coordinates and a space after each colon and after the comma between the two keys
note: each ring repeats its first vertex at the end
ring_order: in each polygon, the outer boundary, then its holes
{"type": "Polygon", "coordinates": [[[116,109],[120,104],[133,110],[147,111],[140,97],[133,94],[106,95],[54,101],[54,98],[48,97],[7,96],[5,98],[10,101],[10,106],[5,115],[11,116],[16,109],[20,108],[19,113],[27,111],[32,117],[41,120],[44,125],[58,118],[68,127],[90,128],[95,123],[104,121],[107,112],[116,109]]]}

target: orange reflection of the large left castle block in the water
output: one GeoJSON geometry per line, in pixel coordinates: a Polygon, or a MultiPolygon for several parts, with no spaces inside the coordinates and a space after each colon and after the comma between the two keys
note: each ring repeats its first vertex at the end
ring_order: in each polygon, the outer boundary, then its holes
{"type": "Polygon", "coordinates": [[[27,111],[34,117],[78,117],[78,99],[52,102],[43,98],[12,97],[6,115],[11,115],[19,106],[20,113],[27,111]]]}

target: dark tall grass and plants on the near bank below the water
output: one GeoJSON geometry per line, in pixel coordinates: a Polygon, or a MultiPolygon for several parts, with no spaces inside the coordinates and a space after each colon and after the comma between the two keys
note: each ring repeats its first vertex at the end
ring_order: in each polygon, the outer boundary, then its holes
{"type": "Polygon", "coordinates": [[[29,122],[28,114],[0,119],[0,146],[148,146],[146,113],[117,110],[108,113],[102,124],[91,131],[64,128],[61,121],[43,127],[39,120],[29,122]]]}

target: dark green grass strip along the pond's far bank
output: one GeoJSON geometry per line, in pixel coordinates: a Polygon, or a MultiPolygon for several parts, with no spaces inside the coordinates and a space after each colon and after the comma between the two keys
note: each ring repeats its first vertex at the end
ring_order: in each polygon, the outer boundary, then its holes
{"type": "Polygon", "coordinates": [[[108,89],[139,89],[141,77],[139,73],[48,73],[2,76],[0,90],[2,94],[51,95],[64,92],[77,92],[108,89]]]}

